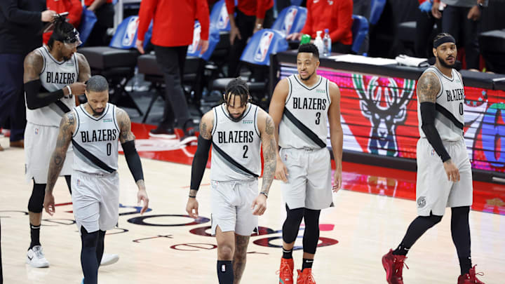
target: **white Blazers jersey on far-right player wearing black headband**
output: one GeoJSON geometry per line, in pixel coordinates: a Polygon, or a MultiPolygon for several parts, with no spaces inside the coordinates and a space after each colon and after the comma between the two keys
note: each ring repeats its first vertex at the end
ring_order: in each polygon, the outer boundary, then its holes
{"type": "MultiPolygon", "coordinates": [[[[440,81],[440,92],[436,97],[435,128],[443,141],[459,141],[463,139],[464,126],[464,86],[459,73],[452,69],[452,78],[448,78],[438,68],[431,66],[424,72],[433,72],[440,81]]],[[[417,119],[419,135],[425,138],[421,129],[421,104],[417,101],[417,119]]]]}

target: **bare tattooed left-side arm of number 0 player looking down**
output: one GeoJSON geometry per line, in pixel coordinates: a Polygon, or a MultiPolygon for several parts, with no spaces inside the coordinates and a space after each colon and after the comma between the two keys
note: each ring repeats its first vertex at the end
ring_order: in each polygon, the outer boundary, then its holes
{"type": "Polygon", "coordinates": [[[58,180],[58,176],[60,175],[63,163],[65,163],[67,150],[70,142],[72,141],[72,135],[74,133],[75,126],[76,121],[74,117],[74,111],[69,111],[63,116],[60,122],[60,133],[58,134],[56,147],[49,162],[48,180],[46,185],[46,192],[49,194],[53,193],[54,185],[56,183],[56,180],[58,180]]]}

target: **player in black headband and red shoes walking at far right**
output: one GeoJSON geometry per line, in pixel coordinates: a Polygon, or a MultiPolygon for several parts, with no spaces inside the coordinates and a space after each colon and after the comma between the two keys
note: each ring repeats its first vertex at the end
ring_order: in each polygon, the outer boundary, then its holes
{"type": "Polygon", "coordinates": [[[417,81],[417,214],[396,250],[382,257],[386,280],[403,284],[405,255],[424,232],[440,222],[450,207],[452,241],[459,257],[458,284],[483,284],[471,264],[469,212],[472,173],[463,138],[464,86],[454,67],[457,48],[450,34],[433,41],[435,65],[417,81]]]}

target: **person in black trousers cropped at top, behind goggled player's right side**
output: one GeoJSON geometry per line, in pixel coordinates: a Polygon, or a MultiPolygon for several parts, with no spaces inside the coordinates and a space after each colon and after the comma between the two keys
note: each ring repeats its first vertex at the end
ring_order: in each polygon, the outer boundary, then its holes
{"type": "Polygon", "coordinates": [[[84,0],[84,6],[89,11],[93,11],[97,17],[97,22],[93,26],[85,45],[108,46],[110,39],[107,36],[107,29],[114,27],[114,5],[112,0],[84,0]]]}

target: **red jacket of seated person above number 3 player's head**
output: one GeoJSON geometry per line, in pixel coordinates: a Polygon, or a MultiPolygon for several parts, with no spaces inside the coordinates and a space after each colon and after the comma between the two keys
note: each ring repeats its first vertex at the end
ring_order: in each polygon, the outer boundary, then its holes
{"type": "Polygon", "coordinates": [[[316,38],[317,31],[330,30],[332,43],[352,44],[352,0],[307,0],[307,20],[302,34],[316,38]]]}

